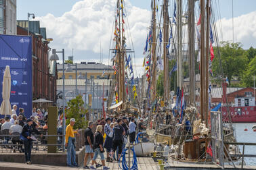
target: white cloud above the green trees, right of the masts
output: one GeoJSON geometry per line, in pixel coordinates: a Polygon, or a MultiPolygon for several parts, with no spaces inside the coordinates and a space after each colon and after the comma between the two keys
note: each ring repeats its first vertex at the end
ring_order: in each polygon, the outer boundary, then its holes
{"type": "MultiPolygon", "coordinates": [[[[232,42],[232,18],[220,20],[223,38],[220,40],[232,42]]],[[[219,21],[217,22],[219,28],[219,21]]],[[[234,18],[234,42],[241,42],[244,49],[256,47],[256,11],[234,18]]],[[[220,33],[219,33],[220,35],[220,33]]]]}

